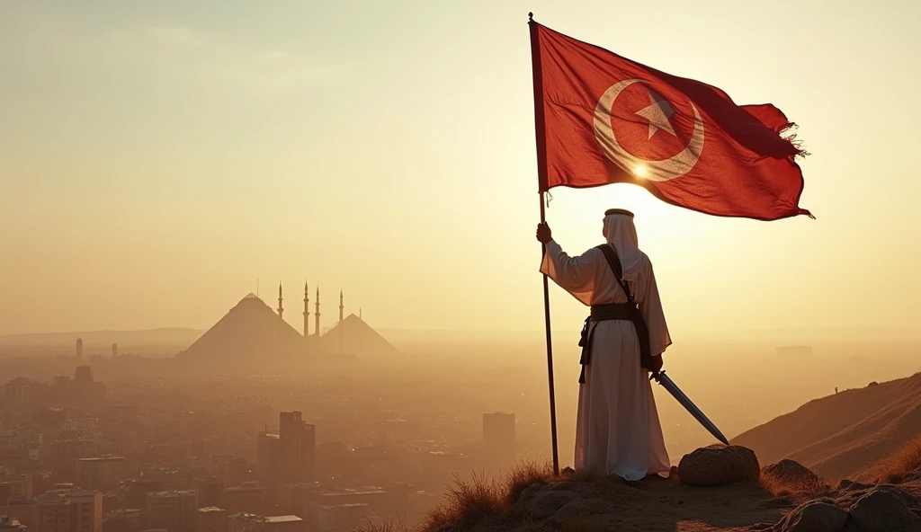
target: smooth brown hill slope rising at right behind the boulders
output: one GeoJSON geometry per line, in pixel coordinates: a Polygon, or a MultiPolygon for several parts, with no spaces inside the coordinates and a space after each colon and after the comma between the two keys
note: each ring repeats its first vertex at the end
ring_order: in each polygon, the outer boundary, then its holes
{"type": "Polygon", "coordinates": [[[733,438],[763,461],[791,458],[829,479],[854,477],[921,433],[921,374],[815,399],[733,438]]]}

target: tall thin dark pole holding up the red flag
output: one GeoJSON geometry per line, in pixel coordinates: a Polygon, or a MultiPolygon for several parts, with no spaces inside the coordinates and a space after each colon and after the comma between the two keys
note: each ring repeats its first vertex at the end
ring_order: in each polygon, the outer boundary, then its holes
{"type": "MultiPolygon", "coordinates": [[[[540,184],[538,199],[541,203],[541,223],[546,223],[544,194],[547,190],[547,146],[543,129],[543,80],[541,75],[541,49],[534,14],[528,14],[530,27],[530,61],[534,77],[534,133],[537,139],[537,173],[540,184]]],[[[541,260],[547,254],[547,245],[541,244],[541,260]]],[[[543,327],[547,341],[547,384],[550,387],[550,438],[554,453],[554,475],[560,474],[560,456],[556,445],[556,392],[554,389],[554,344],[550,333],[550,284],[543,275],[543,327]]]]}

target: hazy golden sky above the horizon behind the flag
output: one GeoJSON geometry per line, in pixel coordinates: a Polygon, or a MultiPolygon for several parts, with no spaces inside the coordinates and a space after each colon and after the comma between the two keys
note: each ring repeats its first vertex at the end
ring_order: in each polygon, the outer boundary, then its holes
{"type": "Polygon", "coordinates": [[[554,190],[574,253],[635,211],[676,341],[915,326],[921,8],[758,4],[0,0],[0,334],[206,328],[257,279],[298,330],[305,280],[327,325],[343,288],[377,327],[540,330],[529,10],[800,125],[816,221],[554,190]]]}

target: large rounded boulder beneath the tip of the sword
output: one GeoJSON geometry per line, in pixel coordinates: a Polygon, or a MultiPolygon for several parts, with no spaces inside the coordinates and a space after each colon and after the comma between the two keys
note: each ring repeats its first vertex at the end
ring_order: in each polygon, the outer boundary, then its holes
{"type": "Polygon", "coordinates": [[[721,486],[731,482],[757,482],[761,466],[754,451],[740,445],[712,445],[684,455],[678,477],[691,486],[721,486]]]}

